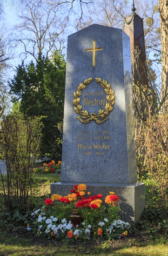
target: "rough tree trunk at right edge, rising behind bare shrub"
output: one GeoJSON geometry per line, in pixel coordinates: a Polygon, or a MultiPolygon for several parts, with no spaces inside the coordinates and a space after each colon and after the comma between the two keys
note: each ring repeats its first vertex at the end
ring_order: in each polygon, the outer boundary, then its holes
{"type": "Polygon", "coordinates": [[[168,0],[159,0],[161,20],[161,51],[162,51],[162,72],[161,72],[161,101],[162,112],[168,113],[168,0]]]}

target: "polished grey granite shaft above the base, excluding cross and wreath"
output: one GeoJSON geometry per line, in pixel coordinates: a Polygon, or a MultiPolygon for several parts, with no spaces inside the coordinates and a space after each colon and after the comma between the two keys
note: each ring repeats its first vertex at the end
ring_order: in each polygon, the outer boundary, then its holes
{"type": "Polygon", "coordinates": [[[136,182],[129,38],[121,29],[94,24],[68,37],[61,181],[136,182]],[[86,52],[93,40],[103,48],[96,51],[95,67],[92,52],[86,52]],[[81,123],[74,111],[73,94],[90,77],[93,81],[82,90],[82,110],[97,114],[107,102],[95,77],[114,89],[114,109],[102,124],[81,123]],[[98,105],[88,106],[89,100],[98,105]]]}

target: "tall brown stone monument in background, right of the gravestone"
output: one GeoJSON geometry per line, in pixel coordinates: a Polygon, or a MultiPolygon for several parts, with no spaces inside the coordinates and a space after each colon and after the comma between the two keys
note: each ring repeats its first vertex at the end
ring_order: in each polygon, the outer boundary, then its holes
{"type": "Polygon", "coordinates": [[[143,19],[135,13],[134,1],[132,13],[124,19],[124,32],[130,37],[131,62],[133,68],[133,81],[138,81],[142,86],[148,85],[148,73],[146,67],[146,52],[143,30],[143,19]],[[137,54],[139,59],[137,61],[137,54]]]}

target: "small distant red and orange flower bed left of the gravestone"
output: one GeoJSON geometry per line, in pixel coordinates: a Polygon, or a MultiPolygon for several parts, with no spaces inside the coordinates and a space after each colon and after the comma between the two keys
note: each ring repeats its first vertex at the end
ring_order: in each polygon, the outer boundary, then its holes
{"type": "Polygon", "coordinates": [[[43,166],[39,166],[35,168],[36,173],[55,173],[56,170],[61,170],[61,161],[58,161],[57,164],[55,164],[55,161],[52,160],[49,163],[43,163],[43,166]]]}

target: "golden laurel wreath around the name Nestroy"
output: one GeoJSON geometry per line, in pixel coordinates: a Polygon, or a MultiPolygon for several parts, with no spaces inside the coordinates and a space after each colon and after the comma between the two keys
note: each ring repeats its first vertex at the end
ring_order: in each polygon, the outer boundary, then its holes
{"type": "Polygon", "coordinates": [[[106,99],[108,102],[106,102],[105,105],[105,111],[103,109],[100,109],[98,114],[91,113],[89,115],[87,110],[82,110],[82,105],[79,103],[81,102],[80,96],[82,95],[81,90],[85,89],[86,86],[93,80],[93,78],[87,78],[83,83],[80,83],[77,87],[77,91],[74,92],[74,111],[81,115],[81,117],[77,116],[79,121],[82,123],[89,123],[90,121],[96,121],[96,123],[104,123],[104,121],[108,120],[109,113],[113,110],[113,105],[115,103],[115,95],[114,90],[111,88],[111,84],[108,83],[106,80],[101,80],[101,78],[96,78],[95,81],[101,85],[101,87],[104,89],[104,92],[106,95],[106,99]]]}

